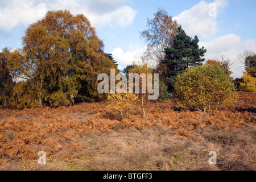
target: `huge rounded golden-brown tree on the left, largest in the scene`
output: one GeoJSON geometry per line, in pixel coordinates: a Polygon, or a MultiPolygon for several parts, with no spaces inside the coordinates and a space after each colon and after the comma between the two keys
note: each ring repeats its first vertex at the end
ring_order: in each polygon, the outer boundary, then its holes
{"type": "Polygon", "coordinates": [[[77,95],[102,97],[97,92],[97,76],[117,69],[82,14],[48,11],[27,28],[22,40],[23,48],[10,53],[7,67],[15,79],[24,81],[16,86],[22,90],[27,85],[31,92],[28,99],[36,106],[43,102],[53,106],[72,104],[77,95]]]}

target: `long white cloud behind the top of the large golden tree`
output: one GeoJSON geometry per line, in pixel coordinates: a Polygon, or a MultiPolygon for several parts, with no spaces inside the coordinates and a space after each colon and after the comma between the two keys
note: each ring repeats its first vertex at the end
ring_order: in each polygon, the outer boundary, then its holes
{"type": "Polygon", "coordinates": [[[127,0],[10,0],[0,1],[0,30],[8,32],[20,24],[31,24],[43,18],[47,10],[70,10],[84,14],[96,28],[126,27],[133,23],[137,11],[122,4],[127,0]]]}

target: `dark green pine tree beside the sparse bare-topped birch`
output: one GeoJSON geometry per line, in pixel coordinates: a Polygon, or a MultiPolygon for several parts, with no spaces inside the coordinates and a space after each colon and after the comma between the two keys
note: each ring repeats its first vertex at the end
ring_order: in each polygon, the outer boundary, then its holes
{"type": "Polygon", "coordinates": [[[185,69],[195,65],[201,65],[204,59],[204,53],[207,51],[204,47],[199,48],[199,39],[195,36],[192,39],[185,31],[178,27],[178,33],[174,38],[172,47],[166,47],[164,52],[166,58],[160,63],[167,66],[168,73],[166,75],[168,81],[168,89],[173,90],[177,81],[176,76],[185,69]]]}

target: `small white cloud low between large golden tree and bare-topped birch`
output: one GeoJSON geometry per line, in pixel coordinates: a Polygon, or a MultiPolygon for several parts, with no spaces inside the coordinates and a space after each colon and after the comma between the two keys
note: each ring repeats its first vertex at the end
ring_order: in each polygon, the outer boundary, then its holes
{"type": "Polygon", "coordinates": [[[112,55],[120,67],[126,67],[126,65],[133,64],[133,61],[137,62],[143,56],[143,53],[146,51],[146,47],[138,49],[130,49],[127,52],[123,52],[122,48],[118,47],[112,51],[112,55]]]}

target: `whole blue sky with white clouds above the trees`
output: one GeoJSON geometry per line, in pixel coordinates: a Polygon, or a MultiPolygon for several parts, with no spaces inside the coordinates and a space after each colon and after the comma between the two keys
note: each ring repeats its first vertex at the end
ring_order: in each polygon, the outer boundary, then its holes
{"type": "Polygon", "coordinates": [[[123,69],[139,61],[147,44],[140,32],[147,18],[162,8],[177,20],[187,35],[197,35],[199,46],[207,49],[204,58],[225,56],[234,63],[233,77],[244,68],[238,55],[256,53],[256,1],[254,0],[0,0],[0,51],[22,48],[22,36],[29,24],[43,18],[48,10],[69,10],[84,14],[123,69]]]}

